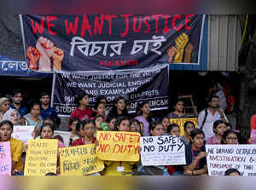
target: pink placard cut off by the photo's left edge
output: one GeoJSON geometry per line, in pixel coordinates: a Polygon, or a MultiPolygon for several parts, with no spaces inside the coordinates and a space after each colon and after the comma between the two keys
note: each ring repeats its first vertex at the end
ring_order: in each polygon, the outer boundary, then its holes
{"type": "Polygon", "coordinates": [[[9,141],[0,142],[0,176],[11,176],[12,158],[9,141]]]}

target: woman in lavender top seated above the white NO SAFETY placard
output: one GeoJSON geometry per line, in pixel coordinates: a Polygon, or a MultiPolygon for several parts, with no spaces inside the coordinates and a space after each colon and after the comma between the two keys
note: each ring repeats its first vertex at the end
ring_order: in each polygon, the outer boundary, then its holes
{"type": "Polygon", "coordinates": [[[143,102],[138,107],[141,107],[141,112],[136,119],[144,124],[143,136],[149,136],[149,124],[154,121],[150,115],[150,104],[149,102],[143,102]]]}

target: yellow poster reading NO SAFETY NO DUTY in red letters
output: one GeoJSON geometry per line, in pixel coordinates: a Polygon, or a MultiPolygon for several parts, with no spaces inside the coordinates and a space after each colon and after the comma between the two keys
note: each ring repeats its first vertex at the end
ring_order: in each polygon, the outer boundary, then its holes
{"type": "Polygon", "coordinates": [[[97,131],[96,138],[98,158],[111,161],[139,161],[139,133],[97,131]]]}

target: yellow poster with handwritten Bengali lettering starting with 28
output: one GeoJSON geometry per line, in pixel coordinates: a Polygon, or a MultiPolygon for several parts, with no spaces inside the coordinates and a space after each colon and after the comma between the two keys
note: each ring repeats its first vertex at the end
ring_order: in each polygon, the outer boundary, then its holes
{"type": "Polygon", "coordinates": [[[84,176],[104,169],[95,144],[60,149],[61,176],[84,176]]]}

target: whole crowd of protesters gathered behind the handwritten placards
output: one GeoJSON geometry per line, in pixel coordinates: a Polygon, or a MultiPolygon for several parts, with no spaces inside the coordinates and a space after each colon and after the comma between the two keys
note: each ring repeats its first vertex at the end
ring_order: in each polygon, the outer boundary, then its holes
{"type": "MultiPolygon", "coordinates": [[[[125,98],[115,99],[112,109],[106,110],[107,98],[96,97],[94,107],[89,107],[89,95],[80,93],[75,101],[78,107],[71,113],[67,129],[71,131],[69,146],[80,146],[96,143],[96,131],[130,131],[142,136],[176,135],[185,144],[186,165],[142,166],[131,162],[104,162],[105,170],[94,175],[160,175],[160,176],[199,176],[207,175],[206,144],[239,144],[238,131],[233,130],[225,116],[224,95],[218,93],[218,85],[214,86],[208,98],[208,107],[198,117],[198,127],[193,122],[183,126],[170,124],[170,118],[188,118],[184,112],[184,103],[177,100],[174,111],[160,118],[154,118],[149,102],[142,102],[137,107],[136,115],[131,115],[125,98]],[[212,92],[217,93],[212,93],[212,92]],[[219,96],[220,95],[220,96],[219,96]],[[221,100],[220,100],[221,99],[221,100]],[[221,104],[220,104],[221,103],[221,104]],[[180,127],[184,135],[180,136],[180,127]],[[119,172],[117,167],[124,167],[119,172]]],[[[30,102],[25,107],[22,92],[15,89],[11,100],[0,98],[0,141],[10,141],[12,157],[12,175],[23,175],[26,148],[23,143],[11,137],[14,125],[32,125],[35,139],[58,139],[58,147],[65,147],[60,136],[54,136],[61,119],[55,109],[49,106],[50,96],[43,93],[38,101],[30,102]],[[28,108],[28,109],[27,109],[28,108]]],[[[250,143],[251,140],[248,141],[250,143]]],[[[59,171],[57,170],[56,173],[59,171]]],[[[225,175],[240,175],[235,169],[227,170],[225,175]]]]}

